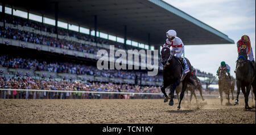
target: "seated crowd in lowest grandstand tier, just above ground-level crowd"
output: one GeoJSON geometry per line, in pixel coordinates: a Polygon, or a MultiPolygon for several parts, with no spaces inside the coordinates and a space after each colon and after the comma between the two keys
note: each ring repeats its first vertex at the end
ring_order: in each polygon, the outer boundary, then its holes
{"type": "Polygon", "coordinates": [[[0,55],[0,66],[6,68],[32,69],[34,71],[48,71],[55,73],[73,73],[76,75],[91,75],[110,78],[135,79],[142,73],[142,81],[162,82],[162,76],[147,76],[144,72],[131,72],[130,70],[99,70],[94,66],[85,64],[46,62],[44,60],[0,55]]]}

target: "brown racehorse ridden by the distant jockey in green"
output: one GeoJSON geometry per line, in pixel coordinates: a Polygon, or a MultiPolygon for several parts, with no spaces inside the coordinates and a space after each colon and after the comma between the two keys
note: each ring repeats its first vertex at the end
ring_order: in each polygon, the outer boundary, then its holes
{"type": "Polygon", "coordinates": [[[225,93],[226,99],[228,99],[229,102],[229,93],[232,93],[232,100],[234,99],[233,91],[231,89],[232,87],[232,81],[229,79],[228,75],[226,75],[226,67],[220,68],[220,72],[218,73],[218,89],[220,90],[220,97],[221,97],[221,104],[223,102],[222,98],[222,92],[225,93]]]}

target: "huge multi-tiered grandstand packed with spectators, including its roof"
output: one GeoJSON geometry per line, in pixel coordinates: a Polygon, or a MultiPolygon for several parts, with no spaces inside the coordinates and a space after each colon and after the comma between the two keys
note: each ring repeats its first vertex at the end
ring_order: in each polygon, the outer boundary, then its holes
{"type": "MultiPolygon", "coordinates": [[[[115,50],[159,50],[170,23],[185,45],[234,42],[163,1],[39,1],[36,5],[30,1],[2,1],[0,9],[1,76],[18,84],[30,79],[31,85],[36,84],[34,88],[1,84],[5,88],[69,90],[78,83],[79,90],[159,93],[163,81],[160,57],[158,75],[147,76],[147,70],[142,69],[100,71],[96,67],[97,51],[108,50],[110,45],[115,50]],[[192,32],[199,34],[194,37],[192,32]],[[47,88],[41,81],[65,88],[47,88]]],[[[197,71],[198,76],[213,77],[197,71]]]]}

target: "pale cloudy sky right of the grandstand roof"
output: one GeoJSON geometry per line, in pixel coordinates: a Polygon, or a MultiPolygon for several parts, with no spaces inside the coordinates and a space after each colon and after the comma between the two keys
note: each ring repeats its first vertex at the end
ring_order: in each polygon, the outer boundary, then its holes
{"type": "Polygon", "coordinates": [[[225,61],[231,68],[230,75],[236,77],[234,73],[238,56],[236,43],[243,34],[250,37],[255,59],[255,0],[163,1],[226,34],[235,42],[217,45],[185,45],[185,57],[193,67],[216,76],[221,61],[225,61]]]}

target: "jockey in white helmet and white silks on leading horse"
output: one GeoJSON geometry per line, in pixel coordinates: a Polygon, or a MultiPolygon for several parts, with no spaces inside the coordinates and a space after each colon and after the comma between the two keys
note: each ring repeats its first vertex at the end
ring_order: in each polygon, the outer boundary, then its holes
{"type": "Polygon", "coordinates": [[[174,30],[169,30],[166,32],[166,43],[164,46],[172,47],[171,53],[175,54],[179,58],[181,66],[183,67],[184,73],[189,72],[189,67],[187,61],[181,57],[184,51],[184,44],[179,37],[176,37],[176,32],[174,30]]]}

